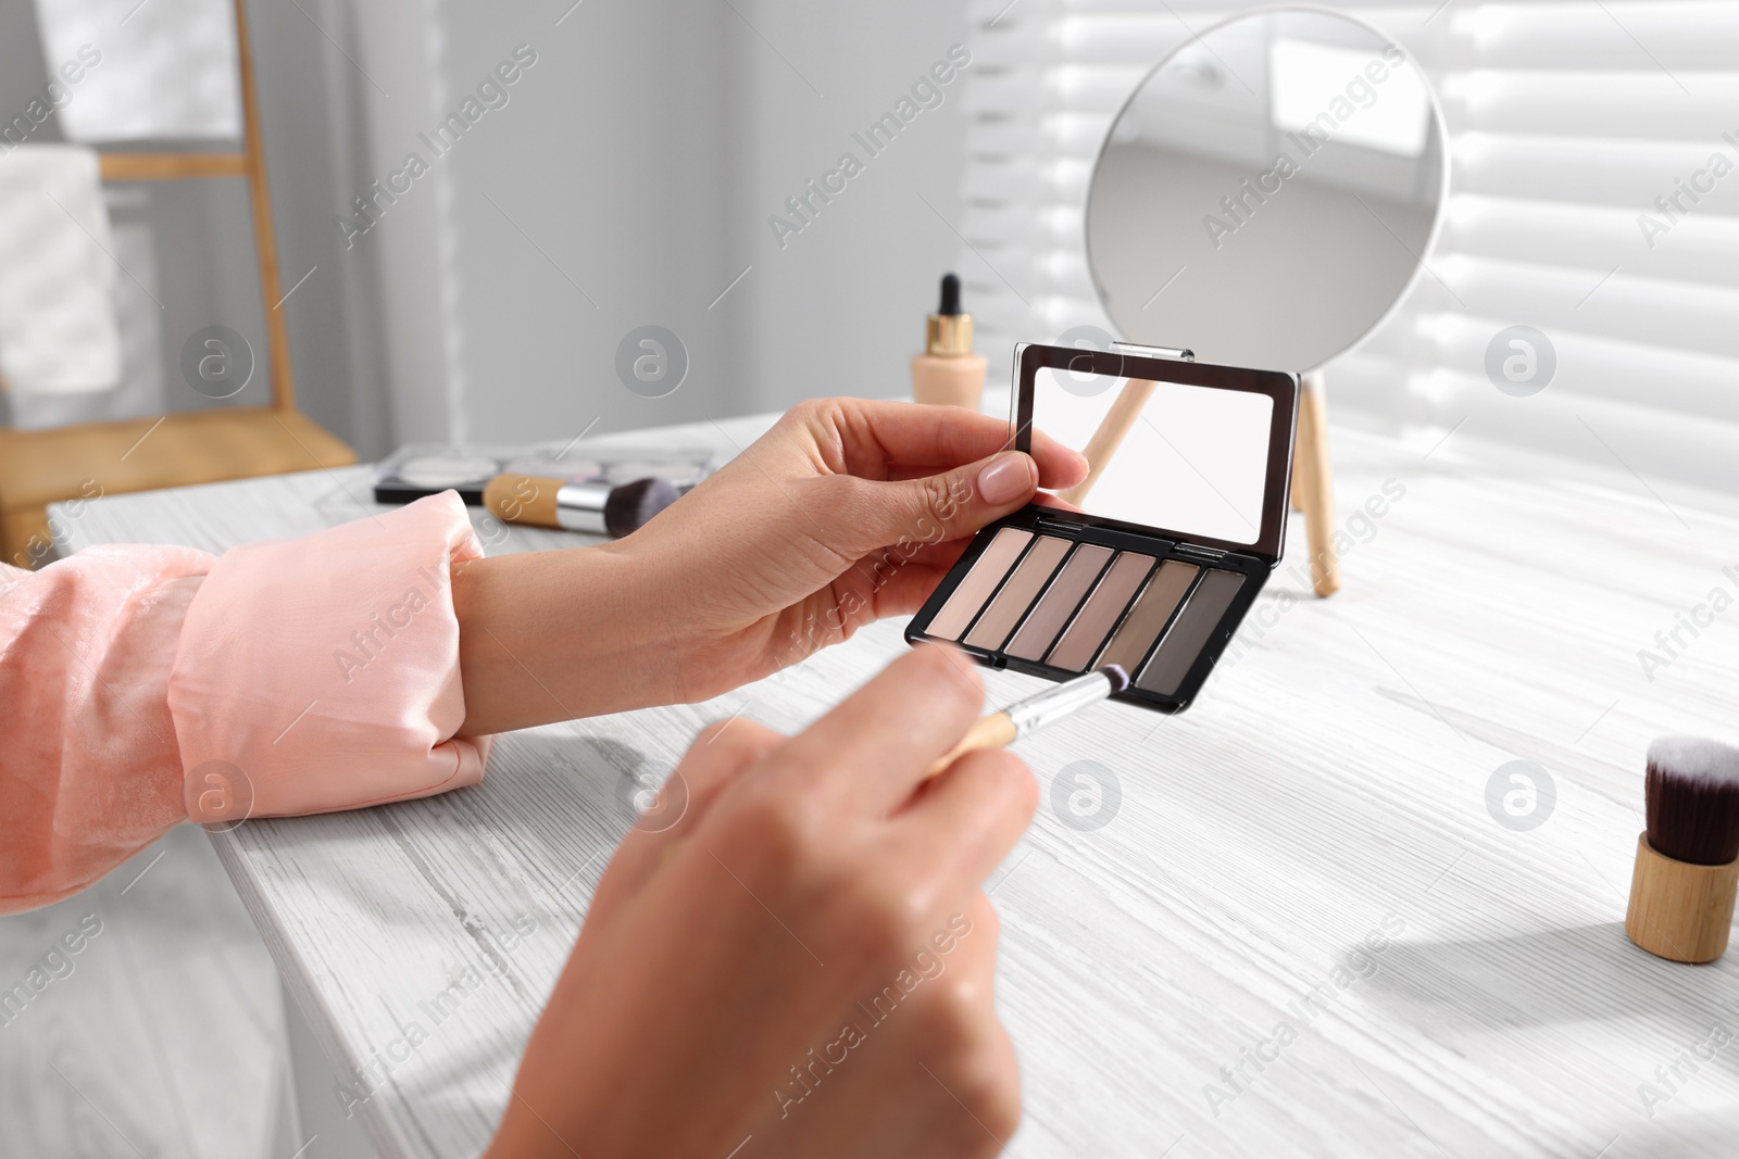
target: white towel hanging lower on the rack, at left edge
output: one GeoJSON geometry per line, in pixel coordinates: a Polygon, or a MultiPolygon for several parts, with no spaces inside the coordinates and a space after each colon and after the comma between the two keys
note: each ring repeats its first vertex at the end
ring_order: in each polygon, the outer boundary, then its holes
{"type": "Polygon", "coordinates": [[[0,156],[0,374],[14,394],[120,382],[113,252],[96,153],[21,144],[0,156]]]}

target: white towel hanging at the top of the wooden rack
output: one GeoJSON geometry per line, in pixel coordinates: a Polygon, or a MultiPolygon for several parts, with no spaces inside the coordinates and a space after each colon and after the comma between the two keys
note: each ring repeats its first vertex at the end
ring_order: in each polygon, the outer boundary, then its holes
{"type": "Polygon", "coordinates": [[[242,136],[230,0],[37,0],[37,24],[68,141],[242,136]]]}

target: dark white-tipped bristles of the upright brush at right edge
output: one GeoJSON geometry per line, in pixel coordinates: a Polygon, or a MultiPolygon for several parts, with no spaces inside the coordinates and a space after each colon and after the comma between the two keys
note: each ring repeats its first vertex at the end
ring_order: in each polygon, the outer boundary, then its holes
{"type": "Polygon", "coordinates": [[[1649,745],[1649,844],[1692,865],[1739,858],[1739,749],[1699,737],[1649,745]]]}

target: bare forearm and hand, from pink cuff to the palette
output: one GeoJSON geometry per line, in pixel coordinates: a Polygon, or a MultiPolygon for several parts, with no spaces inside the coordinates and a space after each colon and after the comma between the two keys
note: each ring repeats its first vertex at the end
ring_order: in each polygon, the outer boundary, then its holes
{"type": "Polygon", "coordinates": [[[916,612],[970,535],[1087,474],[958,407],[802,403],[628,539],[454,577],[463,733],[706,700],[916,612]]]}

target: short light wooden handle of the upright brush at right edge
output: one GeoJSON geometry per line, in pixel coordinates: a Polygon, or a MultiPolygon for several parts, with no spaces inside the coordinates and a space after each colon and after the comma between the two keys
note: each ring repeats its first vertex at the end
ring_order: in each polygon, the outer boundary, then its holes
{"type": "Polygon", "coordinates": [[[1727,952],[1734,924],[1739,862],[1692,865],[1657,853],[1649,834],[1636,838],[1636,872],[1624,933],[1656,957],[1711,963],[1727,952]]]}

